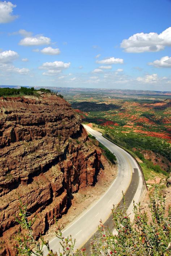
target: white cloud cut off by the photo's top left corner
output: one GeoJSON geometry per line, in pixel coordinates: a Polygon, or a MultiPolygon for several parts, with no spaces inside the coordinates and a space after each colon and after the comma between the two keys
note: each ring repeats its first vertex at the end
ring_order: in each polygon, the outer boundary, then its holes
{"type": "Polygon", "coordinates": [[[18,16],[12,15],[13,8],[17,5],[12,4],[11,2],[1,2],[0,1],[0,23],[8,23],[15,20],[18,16]]]}

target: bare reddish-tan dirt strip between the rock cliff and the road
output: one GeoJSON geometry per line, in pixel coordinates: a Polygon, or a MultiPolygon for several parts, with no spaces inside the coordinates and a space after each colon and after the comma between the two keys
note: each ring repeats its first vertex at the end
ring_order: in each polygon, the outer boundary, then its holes
{"type": "MultiPolygon", "coordinates": [[[[110,165],[106,158],[101,157],[104,170],[98,176],[98,182],[95,186],[87,186],[81,188],[77,193],[72,194],[72,205],[68,209],[67,214],[64,214],[58,221],[59,226],[66,227],[70,222],[77,218],[84,210],[97,201],[107,188],[114,181],[117,174],[117,165],[110,165]]],[[[45,240],[51,240],[55,236],[56,224],[52,225],[47,234],[44,235],[45,240]]]]}

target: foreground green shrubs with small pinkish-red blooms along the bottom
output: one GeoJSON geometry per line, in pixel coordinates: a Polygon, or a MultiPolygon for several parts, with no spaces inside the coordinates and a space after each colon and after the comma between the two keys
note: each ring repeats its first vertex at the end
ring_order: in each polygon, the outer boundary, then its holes
{"type": "MultiPolygon", "coordinates": [[[[164,185],[165,186],[165,185],[164,185]]],[[[123,207],[112,210],[115,232],[99,223],[99,236],[91,241],[91,255],[170,255],[171,254],[171,207],[166,208],[163,185],[155,185],[149,194],[150,215],[134,205],[134,221],[127,215],[124,197],[123,207]]],[[[87,255],[86,248],[74,251],[75,240],[64,238],[57,226],[56,236],[60,239],[60,252],[52,252],[48,241],[36,241],[32,233],[34,220],[29,220],[27,207],[20,203],[20,213],[16,221],[21,231],[16,235],[17,255],[43,255],[46,246],[51,256],[87,255]]],[[[57,222],[56,222],[57,224],[57,222]]]]}

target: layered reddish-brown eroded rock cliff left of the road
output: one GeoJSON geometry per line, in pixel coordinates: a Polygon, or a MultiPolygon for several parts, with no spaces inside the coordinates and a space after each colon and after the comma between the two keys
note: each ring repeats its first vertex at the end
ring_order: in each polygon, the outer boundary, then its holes
{"type": "Polygon", "coordinates": [[[67,211],[67,196],[93,185],[101,151],[81,120],[56,95],[0,98],[0,251],[15,254],[19,197],[27,204],[35,237],[67,211]]]}

